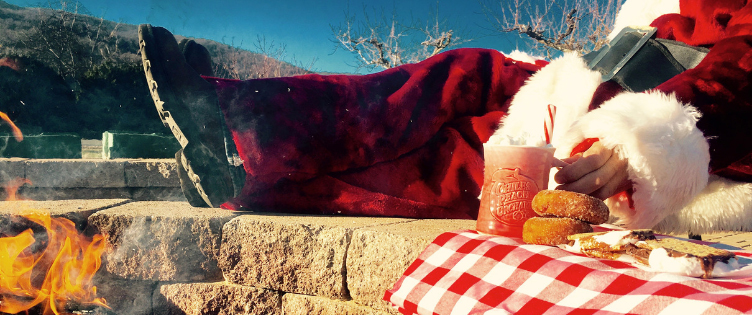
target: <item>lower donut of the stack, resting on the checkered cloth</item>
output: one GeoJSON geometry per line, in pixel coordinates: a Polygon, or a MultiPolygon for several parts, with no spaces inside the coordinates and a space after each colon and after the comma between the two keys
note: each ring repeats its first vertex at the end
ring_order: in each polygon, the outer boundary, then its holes
{"type": "Polygon", "coordinates": [[[569,243],[569,235],[592,231],[590,224],[577,219],[533,217],[522,225],[522,240],[528,244],[556,246],[569,243]]]}

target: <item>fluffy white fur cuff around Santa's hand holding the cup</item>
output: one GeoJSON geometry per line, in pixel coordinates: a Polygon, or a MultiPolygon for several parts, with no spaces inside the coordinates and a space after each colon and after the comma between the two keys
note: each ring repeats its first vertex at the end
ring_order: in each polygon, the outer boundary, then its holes
{"type": "Polygon", "coordinates": [[[678,213],[708,183],[709,146],[699,113],[663,93],[622,93],[582,117],[559,149],[599,138],[627,159],[635,209],[608,200],[628,228],[652,228],[678,213]]]}

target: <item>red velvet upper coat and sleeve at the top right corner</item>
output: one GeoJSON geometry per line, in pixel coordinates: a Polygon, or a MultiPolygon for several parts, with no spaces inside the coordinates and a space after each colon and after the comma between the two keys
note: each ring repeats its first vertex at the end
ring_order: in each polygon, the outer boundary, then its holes
{"type": "Polygon", "coordinates": [[[674,93],[701,113],[697,127],[710,144],[711,172],[752,181],[752,2],[682,0],[681,14],[653,22],[658,36],[710,47],[695,68],[656,89],[674,93]]]}

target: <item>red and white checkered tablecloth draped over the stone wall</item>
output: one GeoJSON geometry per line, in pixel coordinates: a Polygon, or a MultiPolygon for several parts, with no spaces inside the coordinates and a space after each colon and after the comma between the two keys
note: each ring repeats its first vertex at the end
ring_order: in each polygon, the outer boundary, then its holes
{"type": "Polygon", "coordinates": [[[404,314],[739,314],[752,313],[752,278],[651,272],[457,231],[437,237],[384,299],[404,314]]]}

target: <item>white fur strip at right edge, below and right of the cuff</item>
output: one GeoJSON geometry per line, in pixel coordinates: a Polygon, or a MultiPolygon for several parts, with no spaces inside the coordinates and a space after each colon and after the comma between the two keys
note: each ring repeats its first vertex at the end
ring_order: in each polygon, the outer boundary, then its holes
{"type": "Polygon", "coordinates": [[[663,233],[752,231],[752,183],[711,175],[708,186],[680,212],[655,226],[663,233]]]}

